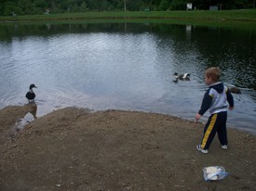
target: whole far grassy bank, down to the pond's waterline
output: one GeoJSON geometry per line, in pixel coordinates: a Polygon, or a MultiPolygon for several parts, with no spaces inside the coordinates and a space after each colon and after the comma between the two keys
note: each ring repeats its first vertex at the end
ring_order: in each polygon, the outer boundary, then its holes
{"type": "Polygon", "coordinates": [[[0,17],[0,24],[47,23],[168,23],[256,30],[256,9],[196,11],[119,11],[0,17]]]}

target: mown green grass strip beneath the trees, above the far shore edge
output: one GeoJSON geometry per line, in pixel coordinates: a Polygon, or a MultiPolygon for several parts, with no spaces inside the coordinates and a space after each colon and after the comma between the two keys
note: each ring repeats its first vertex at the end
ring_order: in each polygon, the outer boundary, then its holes
{"type": "Polygon", "coordinates": [[[37,21],[72,19],[115,19],[117,20],[201,20],[256,22],[256,9],[242,10],[196,10],[196,11],[133,11],[133,12],[85,12],[33,16],[0,17],[0,21],[37,21]]]}

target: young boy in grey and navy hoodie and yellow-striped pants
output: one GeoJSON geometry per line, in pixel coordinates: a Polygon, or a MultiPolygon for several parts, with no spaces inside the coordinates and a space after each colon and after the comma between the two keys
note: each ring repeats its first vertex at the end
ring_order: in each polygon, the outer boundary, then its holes
{"type": "Polygon", "coordinates": [[[210,116],[204,128],[201,144],[196,146],[197,150],[204,154],[208,153],[216,133],[218,133],[222,149],[227,149],[227,107],[229,104],[230,110],[234,108],[234,99],[228,88],[219,82],[220,77],[221,71],[218,67],[212,67],[205,71],[205,83],[209,85],[209,89],[205,93],[200,110],[195,115],[195,121],[198,121],[209,109],[210,116]]]}

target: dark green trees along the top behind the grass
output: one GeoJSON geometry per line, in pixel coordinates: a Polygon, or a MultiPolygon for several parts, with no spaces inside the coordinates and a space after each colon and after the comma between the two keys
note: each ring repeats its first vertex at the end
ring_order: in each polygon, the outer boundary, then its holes
{"type": "Polygon", "coordinates": [[[185,10],[187,3],[193,9],[208,10],[254,8],[255,0],[1,0],[0,16],[40,15],[49,13],[85,11],[141,11],[185,10]]]}

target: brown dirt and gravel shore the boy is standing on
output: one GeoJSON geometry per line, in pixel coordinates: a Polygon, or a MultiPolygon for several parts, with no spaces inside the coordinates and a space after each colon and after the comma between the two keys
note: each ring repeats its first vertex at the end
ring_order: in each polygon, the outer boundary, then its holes
{"type": "Polygon", "coordinates": [[[203,124],[135,111],[63,108],[12,128],[32,106],[0,110],[0,190],[255,190],[256,137],[228,130],[204,155],[203,124]],[[229,175],[203,180],[221,165],[229,175]]]}

